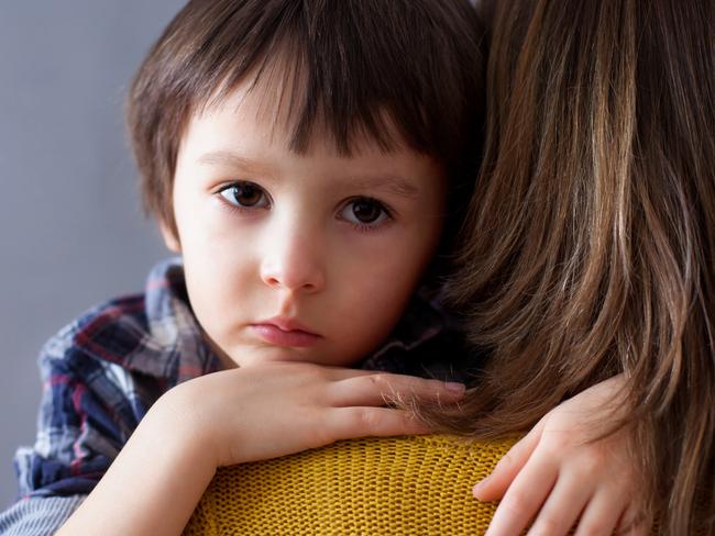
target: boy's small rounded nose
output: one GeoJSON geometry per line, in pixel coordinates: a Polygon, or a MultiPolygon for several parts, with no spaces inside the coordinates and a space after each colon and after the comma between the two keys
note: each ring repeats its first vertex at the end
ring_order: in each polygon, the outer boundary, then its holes
{"type": "Polygon", "coordinates": [[[275,289],[314,293],[324,286],[320,247],[297,233],[267,245],[261,263],[261,279],[275,289]]]}

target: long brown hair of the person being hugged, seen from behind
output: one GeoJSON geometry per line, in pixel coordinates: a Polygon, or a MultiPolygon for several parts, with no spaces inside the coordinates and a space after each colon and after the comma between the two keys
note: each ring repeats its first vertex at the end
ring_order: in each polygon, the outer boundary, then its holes
{"type": "Polygon", "coordinates": [[[526,431],[624,372],[667,534],[715,531],[713,0],[494,11],[483,168],[451,293],[491,360],[455,429],[526,431]]]}

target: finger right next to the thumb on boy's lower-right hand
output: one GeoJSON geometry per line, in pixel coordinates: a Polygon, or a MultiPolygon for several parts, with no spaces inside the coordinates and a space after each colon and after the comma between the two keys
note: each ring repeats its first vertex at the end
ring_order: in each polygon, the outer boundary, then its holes
{"type": "Polygon", "coordinates": [[[558,467],[549,460],[524,466],[497,506],[486,536],[521,534],[551,492],[557,477],[558,467]]]}

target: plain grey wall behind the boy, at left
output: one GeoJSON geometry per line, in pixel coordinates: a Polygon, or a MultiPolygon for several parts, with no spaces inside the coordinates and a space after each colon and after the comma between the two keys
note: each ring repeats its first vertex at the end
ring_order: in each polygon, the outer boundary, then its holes
{"type": "Polygon", "coordinates": [[[0,509],[32,444],[36,356],[59,327],[140,291],[166,256],[143,217],[128,82],[182,0],[0,0],[0,509]]]}

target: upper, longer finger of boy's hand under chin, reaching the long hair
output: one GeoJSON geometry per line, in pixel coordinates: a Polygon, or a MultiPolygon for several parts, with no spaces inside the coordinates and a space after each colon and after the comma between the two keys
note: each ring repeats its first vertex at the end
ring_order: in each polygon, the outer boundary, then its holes
{"type": "Polygon", "coordinates": [[[454,402],[464,394],[464,386],[410,376],[363,375],[334,382],[329,387],[330,403],[338,407],[376,406],[396,400],[415,399],[454,402]]]}

